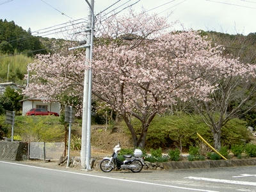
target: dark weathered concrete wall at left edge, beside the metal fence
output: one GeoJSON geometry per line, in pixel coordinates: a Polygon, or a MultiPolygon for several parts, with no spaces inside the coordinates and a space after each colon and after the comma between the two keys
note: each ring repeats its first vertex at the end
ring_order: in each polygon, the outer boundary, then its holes
{"type": "Polygon", "coordinates": [[[28,143],[0,141],[0,159],[22,161],[28,157],[28,143]]]}

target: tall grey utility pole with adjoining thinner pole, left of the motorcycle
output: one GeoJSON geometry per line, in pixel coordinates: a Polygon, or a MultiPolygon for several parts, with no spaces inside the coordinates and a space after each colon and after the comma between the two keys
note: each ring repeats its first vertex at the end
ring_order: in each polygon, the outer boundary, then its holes
{"type": "MultiPolygon", "coordinates": [[[[94,28],[94,0],[85,0],[90,8],[88,14],[88,25],[90,28],[86,34],[86,44],[90,44],[90,47],[86,47],[86,65],[90,65],[89,61],[92,61],[92,49],[93,49],[93,28],[94,28]]],[[[81,166],[90,170],[91,159],[91,102],[92,102],[92,70],[89,68],[84,71],[84,95],[83,95],[83,122],[82,122],[82,143],[81,143],[81,166]]]]}

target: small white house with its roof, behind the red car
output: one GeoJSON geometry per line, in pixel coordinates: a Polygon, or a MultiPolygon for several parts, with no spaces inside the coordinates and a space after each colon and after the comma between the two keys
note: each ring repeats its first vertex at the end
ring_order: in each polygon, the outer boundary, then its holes
{"type": "Polygon", "coordinates": [[[22,115],[33,108],[43,108],[47,111],[52,111],[60,114],[61,104],[57,101],[52,101],[46,98],[31,97],[28,99],[20,100],[22,102],[22,115]]]}

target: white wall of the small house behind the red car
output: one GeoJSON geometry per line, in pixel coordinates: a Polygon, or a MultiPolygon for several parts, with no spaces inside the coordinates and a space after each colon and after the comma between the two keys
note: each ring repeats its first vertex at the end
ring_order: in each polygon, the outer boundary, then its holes
{"type": "Polygon", "coordinates": [[[30,109],[36,108],[36,105],[47,105],[48,111],[52,111],[60,114],[61,105],[59,102],[42,102],[39,100],[24,100],[22,103],[22,115],[26,115],[26,113],[30,109]]]}

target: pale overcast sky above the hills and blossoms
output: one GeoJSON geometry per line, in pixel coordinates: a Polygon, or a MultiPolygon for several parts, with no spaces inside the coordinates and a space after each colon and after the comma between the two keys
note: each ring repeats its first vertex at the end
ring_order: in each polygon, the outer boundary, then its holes
{"type": "MultiPolygon", "coordinates": [[[[118,0],[95,0],[95,14],[116,1],[118,0]]],[[[129,0],[120,0],[105,13],[127,1],[129,0]]],[[[130,0],[116,9],[116,12],[136,1],[138,0],[130,0]]],[[[132,8],[136,11],[156,8],[148,13],[158,13],[161,16],[172,13],[169,20],[179,20],[186,29],[243,35],[256,32],[256,0],[140,0],[132,8]],[[160,6],[161,4],[164,5],[160,6]],[[160,7],[156,8],[157,6],[160,7]]],[[[122,13],[124,11],[118,14],[122,13]]],[[[87,18],[87,14],[88,6],[84,0],[0,0],[0,19],[13,20],[23,29],[31,28],[31,31],[72,19],[87,18]]],[[[180,25],[175,26],[175,29],[180,29],[180,25]]]]}

